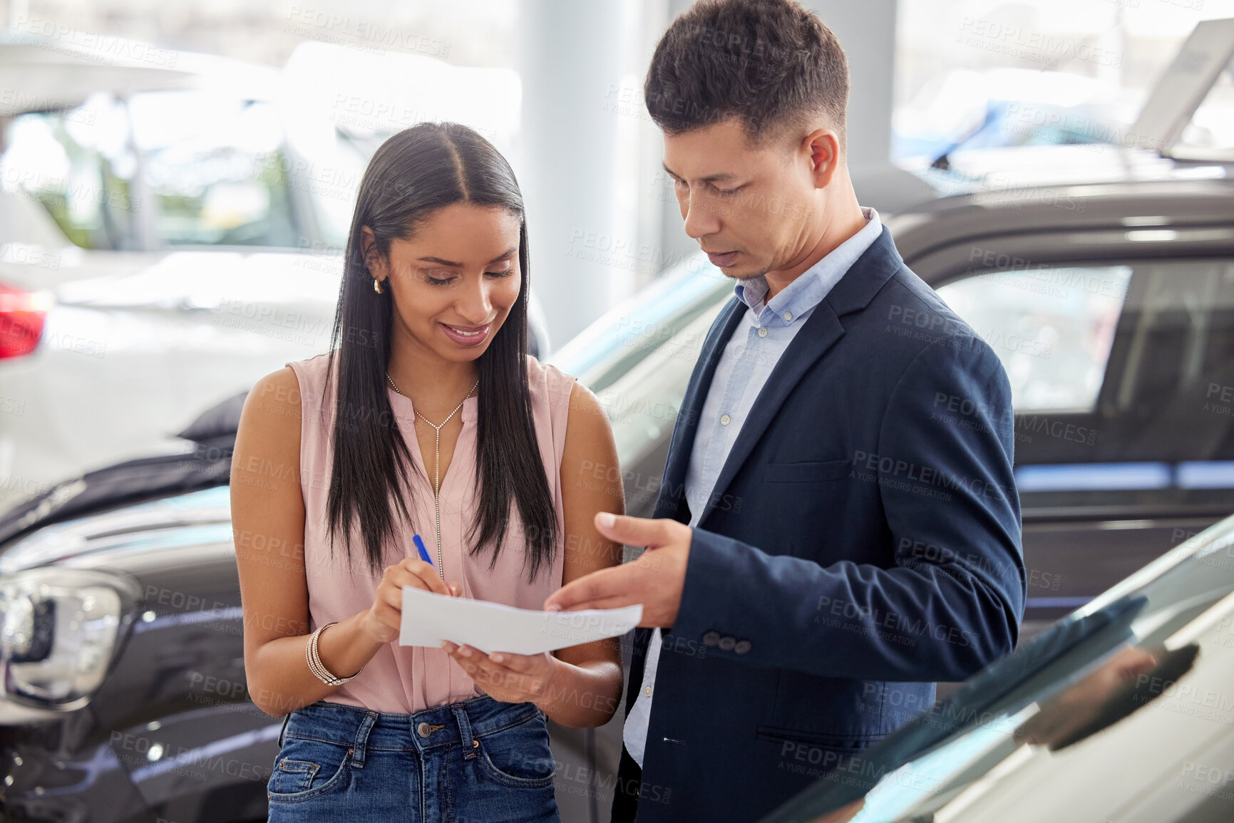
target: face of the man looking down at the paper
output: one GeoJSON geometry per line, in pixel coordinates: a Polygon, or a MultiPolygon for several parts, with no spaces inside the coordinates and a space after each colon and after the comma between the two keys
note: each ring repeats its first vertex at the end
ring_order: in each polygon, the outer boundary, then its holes
{"type": "Polygon", "coordinates": [[[816,206],[808,148],[791,136],[747,143],[737,118],[664,136],[664,168],[712,264],[745,280],[787,268],[807,244],[816,206]]]}

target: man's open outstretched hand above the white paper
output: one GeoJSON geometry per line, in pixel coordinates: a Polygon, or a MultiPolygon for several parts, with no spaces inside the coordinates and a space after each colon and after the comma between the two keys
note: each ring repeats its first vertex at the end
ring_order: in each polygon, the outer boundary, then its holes
{"type": "Polygon", "coordinates": [[[677,618],[694,529],[675,519],[596,513],[596,528],[613,543],[645,545],[642,556],[579,577],[549,595],[548,611],[643,605],[639,626],[669,628],[677,618]]]}

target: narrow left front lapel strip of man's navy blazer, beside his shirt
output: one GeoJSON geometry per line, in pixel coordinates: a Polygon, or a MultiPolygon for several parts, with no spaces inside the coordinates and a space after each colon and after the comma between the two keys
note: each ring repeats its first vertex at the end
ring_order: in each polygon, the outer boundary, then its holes
{"type": "Polygon", "coordinates": [[[673,517],[682,523],[681,502],[685,500],[686,469],[690,466],[690,453],[694,450],[695,434],[698,432],[698,418],[702,405],[707,400],[716,365],[724,353],[724,345],[733,336],[733,329],[745,316],[748,306],[735,296],[724,305],[719,317],[712,323],[711,333],[702,344],[702,354],[690,375],[686,394],[681,399],[676,426],[673,427],[673,439],[669,442],[669,457],[664,465],[664,481],[655,500],[653,518],[673,517]]]}

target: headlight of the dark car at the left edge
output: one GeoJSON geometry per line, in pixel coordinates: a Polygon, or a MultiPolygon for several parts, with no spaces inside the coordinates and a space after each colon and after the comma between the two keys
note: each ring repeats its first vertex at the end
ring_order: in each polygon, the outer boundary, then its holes
{"type": "Polygon", "coordinates": [[[102,685],[139,587],[117,575],[47,566],[0,577],[0,695],[70,711],[102,685]]]}

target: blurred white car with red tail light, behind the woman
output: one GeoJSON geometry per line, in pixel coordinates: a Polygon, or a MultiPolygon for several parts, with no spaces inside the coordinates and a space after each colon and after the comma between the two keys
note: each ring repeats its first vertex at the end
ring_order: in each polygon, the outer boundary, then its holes
{"type": "MultiPolygon", "coordinates": [[[[0,97],[0,511],[180,450],[172,436],[202,408],[327,350],[364,165],[390,133],[443,118],[415,105],[417,77],[433,97],[453,84],[454,99],[495,101],[502,130],[444,114],[499,148],[517,128],[506,70],[400,56],[412,102],[392,106],[349,96],[365,67],[322,43],[286,72],[123,53],[146,59],[0,41],[0,88],[21,90],[0,97]]],[[[534,296],[529,325],[547,354],[534,296]]]]}

